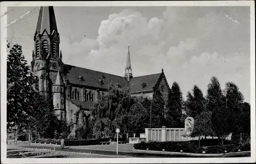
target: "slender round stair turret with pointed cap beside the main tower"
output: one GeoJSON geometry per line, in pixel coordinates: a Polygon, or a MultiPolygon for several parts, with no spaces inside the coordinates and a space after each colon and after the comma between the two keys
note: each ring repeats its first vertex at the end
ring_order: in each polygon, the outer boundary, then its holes
{"type": "Polygon", "coordinates": [[[58,119],[66,118],[65,113],[65,85],[59,71],[57,72],[55,84],[52,86],[53,107],[58,119]]]}

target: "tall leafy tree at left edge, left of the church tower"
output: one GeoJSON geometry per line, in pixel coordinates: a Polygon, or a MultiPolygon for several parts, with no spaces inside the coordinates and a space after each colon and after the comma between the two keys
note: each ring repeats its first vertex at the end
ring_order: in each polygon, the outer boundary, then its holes
{"type": "Polygon", "coordinates": [[[33,114],[33,84],[35,78],[22,54],[22,46],[15,44],[7,56],[7,131],[15,131],[16,136],[28,129],[29,116],[33,114]]]}

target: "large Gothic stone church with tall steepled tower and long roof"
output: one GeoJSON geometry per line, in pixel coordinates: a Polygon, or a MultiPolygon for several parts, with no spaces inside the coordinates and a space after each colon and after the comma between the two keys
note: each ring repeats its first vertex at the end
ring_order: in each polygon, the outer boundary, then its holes
{"type": "Polygon", "coordinates": [[[163,69],[157,74],[133,77],[129,47],[124,76],[118,76],[63,63],[65,52],[62,54],[59,43],[53,7],[40,7],[31,70],[38,78],[38,90],[52,96],[55,113],[73,124],[71,135],[88,121],[90,108],[108,92],[110,85],[126,86],[131,95],[151,98],[156,88],[167,99],[170,88],[163,69]]]}

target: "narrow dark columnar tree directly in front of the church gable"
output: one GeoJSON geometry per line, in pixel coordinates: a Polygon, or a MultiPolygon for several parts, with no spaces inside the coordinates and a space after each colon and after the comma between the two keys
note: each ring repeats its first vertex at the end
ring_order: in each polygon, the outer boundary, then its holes
{"type": "Polygon", "coordinates": [[[164,99],[159,90],[153,92],[151,127],[161,127],[164,125],[164,99]]]}

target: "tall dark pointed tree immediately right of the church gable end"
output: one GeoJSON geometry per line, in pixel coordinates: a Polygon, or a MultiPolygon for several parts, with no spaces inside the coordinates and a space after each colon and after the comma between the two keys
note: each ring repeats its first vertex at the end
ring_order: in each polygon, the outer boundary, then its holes
{"type": "Polygon", "coordinates": [[[167,123],[166,126],[169,127],[184,127],[184,124],[181,121],[183,109],[183,98],[180,86],[175,81],[172,88],[168,94],[167,100],[167,123]]]}

